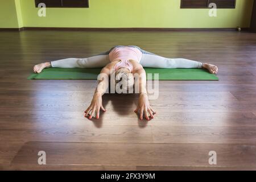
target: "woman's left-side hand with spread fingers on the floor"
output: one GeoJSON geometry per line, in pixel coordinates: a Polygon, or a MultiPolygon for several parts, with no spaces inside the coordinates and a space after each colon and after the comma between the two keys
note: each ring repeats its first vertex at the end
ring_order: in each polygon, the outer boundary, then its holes
{"type": "Polygon", "coordinates": [[[100,118],[100,109],[102,109],[103,111],[106,111],[106,109],[104,109],[104,107],[102,106],[102,97],[101,97],[101,93],[96,92],[93,95],[93,99],[92,102],[90,103],[90,106],[84,111],[85,115],[84,117],[87,117],[89,115],[89,119],[91,119],[94,115],[94,113],[96,112],[96,118],[100,118]],[[90,111],[92,111],[90,113],[90,111]]]}

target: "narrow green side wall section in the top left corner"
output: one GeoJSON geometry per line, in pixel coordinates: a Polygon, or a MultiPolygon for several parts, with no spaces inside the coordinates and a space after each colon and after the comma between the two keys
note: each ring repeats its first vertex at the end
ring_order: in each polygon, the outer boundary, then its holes
{"type": "Polygon", "coordinates": [[[0,0],[0,28],[18,28],[14,0],[0,0]]]}

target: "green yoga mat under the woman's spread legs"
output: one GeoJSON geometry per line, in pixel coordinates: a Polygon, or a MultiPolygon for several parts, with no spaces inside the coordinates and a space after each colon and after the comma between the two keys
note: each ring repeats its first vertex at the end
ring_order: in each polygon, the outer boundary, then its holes
{"type": "MultiPolygon", "coordinates": [[[[159,73],[159,80],[218,80],[205,69],[162,69],[144,68],[146,73],[159,73]]],[[[97,80],[101,68],[46,68],[41,73],[32,73],[28,79],[36,80],[97,80]]],[[[148,75],[147,75],[148,77],[148,75]]]]}

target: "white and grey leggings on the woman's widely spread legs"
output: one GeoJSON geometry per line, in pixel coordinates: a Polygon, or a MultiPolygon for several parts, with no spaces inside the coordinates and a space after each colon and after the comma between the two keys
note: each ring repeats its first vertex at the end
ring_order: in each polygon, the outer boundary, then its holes
{"type": "MultiPolygon", "coordinates": [[[[136,47],[136,46],[131,46],[136,47]]],[[[137,47],[139,48],[139,47],[137,47]]],[[[203,64],[198,61],[176,58],[170,59],[155,55],[154,53],[142,50],[142,59],[140,64],[148,68],[202,68],[203,64]]],[[[111,49],[110,49],[111,51],[111,49]]],[[[52,67],[57,68],[102,68],[110,63],[109,52],[101,55],[86,57],[86,58],[68,58],[57,61],[51,61],[52,67]]]]}

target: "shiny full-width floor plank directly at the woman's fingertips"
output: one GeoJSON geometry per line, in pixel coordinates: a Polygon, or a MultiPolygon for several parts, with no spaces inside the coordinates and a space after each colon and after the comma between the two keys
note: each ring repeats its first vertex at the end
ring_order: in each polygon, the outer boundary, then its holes
{"type": "Polygon", "coordinates": [[[253,113],[204,113],[204,112],[174,112],[163,111],[163,115],[152,121],[134,119],[134,113],[127,113],[120,117],[117,113],[101,113],[102,119],[89,120],[84,118],[81,111],[9,111],[0,114],[0,128],[3,129],[36,129],[40,124],[44,129],[57,126],[94,125],[104,126],[256,126],[256,116],[253,113]],[[71,122],[72,121],[72,122],[71,122]],[[13,125],[10,125],[13,123],[13,125]]]}

